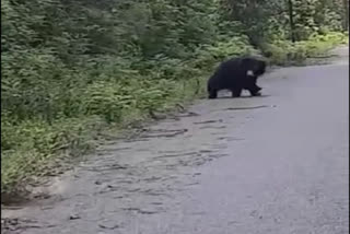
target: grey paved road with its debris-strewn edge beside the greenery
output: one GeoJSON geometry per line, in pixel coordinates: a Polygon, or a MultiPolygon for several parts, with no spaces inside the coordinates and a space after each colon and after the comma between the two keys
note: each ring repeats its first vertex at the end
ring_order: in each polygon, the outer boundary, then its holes
{"type": "Polygon", "coordinates": [[[348,49],[261,79],[267,94],[203,100],[4,215],[25,234],[346,234],[348,49]],[[24,220],[25,219],[25,220],[24,220]]]}

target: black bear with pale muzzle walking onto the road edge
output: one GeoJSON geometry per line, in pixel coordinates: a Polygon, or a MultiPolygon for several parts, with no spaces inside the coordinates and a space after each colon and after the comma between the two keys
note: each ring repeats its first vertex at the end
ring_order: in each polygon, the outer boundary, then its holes
{"type": "Polygon", "coordinates": [[[248,90],[252,96],[261,95],[258,77],[266,71],[266,62],[256,58],[233,58],[222,62],[208,80],[209,98],[217,98],[220,90],[230,90],[232,97],[240,97],[242,90],[248,90]]]}

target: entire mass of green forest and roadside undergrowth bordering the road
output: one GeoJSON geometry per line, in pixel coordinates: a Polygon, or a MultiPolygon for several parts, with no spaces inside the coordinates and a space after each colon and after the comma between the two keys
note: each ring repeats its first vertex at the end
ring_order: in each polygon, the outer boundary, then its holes
{"type": "Polygon", "coordinates": [[[3,0],[2,191],[51,172],[56,155],[84,152],[106,126],[200,96],[228,57],[288,65],[324,54],[347,40],[348,9],[347,0],[3,0]]]}

